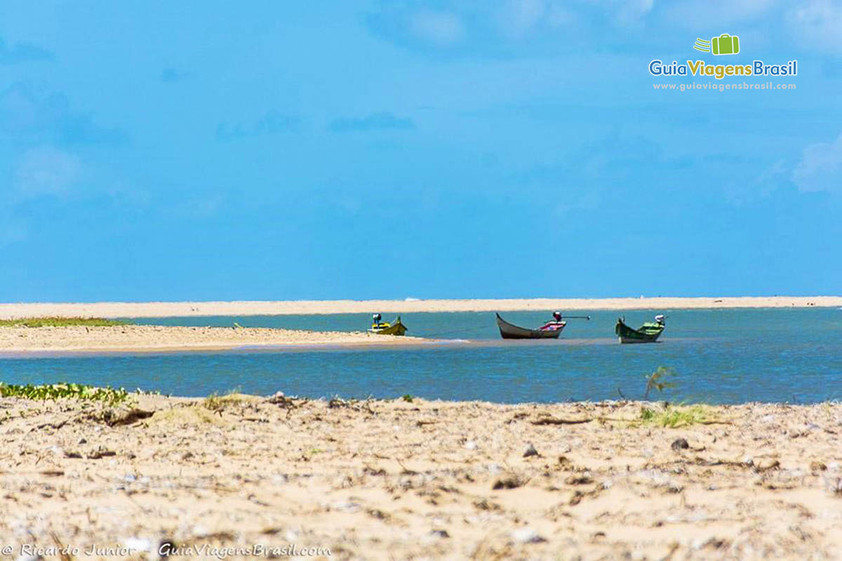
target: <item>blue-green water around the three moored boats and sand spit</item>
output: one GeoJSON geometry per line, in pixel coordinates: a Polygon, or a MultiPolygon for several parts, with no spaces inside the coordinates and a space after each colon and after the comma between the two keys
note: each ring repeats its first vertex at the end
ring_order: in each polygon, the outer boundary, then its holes
{"type": "MultiPolygon", "coordinates": [[[[842,310],[591,311],[571,315],[559,341],[502,341],[493,313],[403,314],[409,335],[445,344],[378,349],[240,349],[231,352],[135,353],[0,358],[9,383],[72,380],[84,384],[207,395],[428,399],[504,403],[642,398],[645,374],[674,368],[676,387],[656,399],[742,403],[842,400],[842,310]],[[618,315],[630,325],[668,315],[662,341],[620,345],[618,315]],[[459,342],[470,339],[472,343],[459,342]]],[[[509,312],[518,325],[541,325],[547,312],[509,312]]],[[[384,314],[384,320],[392,320],[384,314]]],[[[360,331],[370,315],[276,315],[156,318],[138,323],[360,331]]]]}

